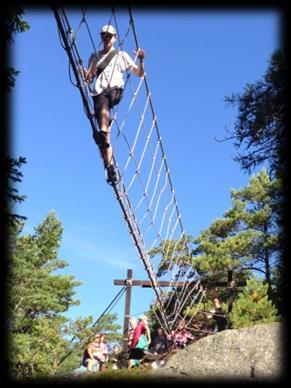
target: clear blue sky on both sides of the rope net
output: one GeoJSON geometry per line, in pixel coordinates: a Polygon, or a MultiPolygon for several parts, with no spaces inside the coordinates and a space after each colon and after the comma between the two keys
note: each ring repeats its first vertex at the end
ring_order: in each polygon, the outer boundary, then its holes
{"type": "MultiPolygon", "coordinates": [[[[262,78],[280,47],[280,14],[272,9],[132,12],[182,223],[188,234],[198,236],[230,207],[230,190],[248,182],[232,160],[232,143],[215,138],[227,135],[237,113],[224,98],[262,78]]],[[[81,12],[75,8],[68,15],[76,31],[81,12]]],[[[125,31],[127,11],[116,15],[125,31]]],[[[87,14],[96,46],[109,16],[110,9],[87,14]]],[[[84,282],[76,288],[80,306],[67,315],[97,319],[120,290],[113,279],[124,278],[127,268],[135,279],[147,274],[105,182],[54,15],[33,9],[24,19],[30,30],[15,37],[12,55],[21,71],[12,93],[12,153],[27,158],[18,187],[27,199],[18,212],[28,217],[24,232],[32,233],[50,210],[56,211],[64,227],[59,257],[69,263],[64,272],[84,282]]],[[[132,56],[130,39],[125,49],[132,56]]],[[[83,31],[78,45],[86,64],[92,50],[83,31]]],[[[151,289],[133,288],[132,314],[146,311],[153,299],[151,289]]],[[[112,312],[122,325],[124,298],[112,312]]]]}

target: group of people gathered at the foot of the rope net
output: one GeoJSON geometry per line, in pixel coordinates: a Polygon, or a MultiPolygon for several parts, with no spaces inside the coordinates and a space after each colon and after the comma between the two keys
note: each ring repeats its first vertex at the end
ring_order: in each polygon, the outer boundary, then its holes
{"type": "MultiPolygon", "coordinates": [[[[225,330],[228,328],[228,322],[219,298],[215,297],[213,303],[212,319],[215,324],[212,332],[225,330]]],[[[105,335],[97,334],[85,348],[82,365],[87,368],[87,371],[103,371],[106,363],[111,361],[112,369],[123,368],[126,365],[128,369],[131,369],[139,366],[146,355],[163,355],[170,351],[177,351],[197,339],[199,336],[191,333],[184,319],[181,319],[176,329],[169,334],[166,334],[161,327],[157,327],[151,334],[146,315],[140,316],[138,321],[130,317],[126,363],[122,362],[124,354],[121,347],[114,345],[112,351],[109,352],[105,335]]]]}

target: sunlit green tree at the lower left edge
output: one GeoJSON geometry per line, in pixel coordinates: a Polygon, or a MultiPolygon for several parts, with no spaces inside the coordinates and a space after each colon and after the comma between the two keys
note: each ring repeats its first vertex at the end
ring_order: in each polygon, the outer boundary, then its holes
{"type": "Polygon", "coordinates": [[[53,374],[58,360],[68,351],[60,315],[79,302],[73,276],[59,275],[67,264],[57,257],[62,226],[54,212],[32,235],[22,236],[23,222],[10,227],[7,277],[9,363],[11,376],[53,374]]]}

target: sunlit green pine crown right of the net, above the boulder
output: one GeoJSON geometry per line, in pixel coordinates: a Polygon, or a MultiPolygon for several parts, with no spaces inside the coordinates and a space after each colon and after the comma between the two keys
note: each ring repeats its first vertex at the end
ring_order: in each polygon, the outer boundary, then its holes
{"type": "Polygon", "coordinates": [[[245,280],[250,271],[259,272],[271,286],[271,269],[280,253],[274,200],[280,184],[262,169],[245,188],[231,191],[232,207],[194,241],[193,264],[200,274],[222,280],[231,267],[238,274],[236,280],[245,280]]]}

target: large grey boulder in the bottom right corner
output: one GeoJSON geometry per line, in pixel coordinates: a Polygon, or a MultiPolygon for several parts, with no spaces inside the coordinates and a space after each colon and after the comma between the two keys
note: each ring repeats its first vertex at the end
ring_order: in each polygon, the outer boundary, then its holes
{"type": "Polygon", "coordinates": [[[279,379],[283,372],[282,324],[225,330],[174,354],[157,378],[221,380],[279,379]]]}

